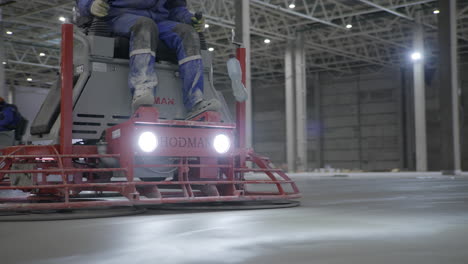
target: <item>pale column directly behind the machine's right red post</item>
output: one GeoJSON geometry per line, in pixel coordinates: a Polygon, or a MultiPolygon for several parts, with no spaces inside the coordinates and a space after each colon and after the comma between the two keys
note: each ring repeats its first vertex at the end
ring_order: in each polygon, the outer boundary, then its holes
{"type": "Polygon", "coordinates": [[[235,42],[241,43],[242,47],[246,49],[245,55],[245,87],[249,95],[249,99],[245,102],[245,123],[246,123],[246,147],[252,148],[252,66],[251,66],[251,49],[250,49],[250,1],[249,0],[236,0],[236,35],[235,42]]]}

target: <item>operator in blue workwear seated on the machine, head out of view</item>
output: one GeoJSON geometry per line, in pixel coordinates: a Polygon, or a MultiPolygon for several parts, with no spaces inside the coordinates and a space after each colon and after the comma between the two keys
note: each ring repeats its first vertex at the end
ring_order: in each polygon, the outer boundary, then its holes
{"type": "Polygon", "coordinates": [[[186,0],[77,1],[81,16],[101,18],[109,23],[115,35],[130,38],[129,86],[134,111],[154,104],[158,37],[177,53],[188,116],[219,110],[219,101],[203,99],[203,64],[197,31],[204,29],[204,18],[190,13],[186,0]]]}

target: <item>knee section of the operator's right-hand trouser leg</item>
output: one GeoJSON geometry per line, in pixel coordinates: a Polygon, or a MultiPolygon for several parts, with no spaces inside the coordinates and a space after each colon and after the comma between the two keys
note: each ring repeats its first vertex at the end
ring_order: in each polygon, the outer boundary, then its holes
{"type": "Polygon", "coordinates": [[[185,59],[179,61],[179,64],[194,59],[201,59],[200,38],[195,29],[187,24],[178,24],[174,27],[173,31],[182,39],[183,50],[185,52],[185,59]]]}

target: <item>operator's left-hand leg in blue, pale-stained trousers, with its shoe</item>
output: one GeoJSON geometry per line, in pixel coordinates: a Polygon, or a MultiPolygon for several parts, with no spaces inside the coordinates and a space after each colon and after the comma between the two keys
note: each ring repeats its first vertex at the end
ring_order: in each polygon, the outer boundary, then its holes
{"type": "Polygon", "coordinates": [[[154,104],[158,85],[155,69],[158,28],[147,17],[124,14],[113,20],[115,34],[130,37],[130,73],[128,83],[133,94],[132,108],[154,104]]]}

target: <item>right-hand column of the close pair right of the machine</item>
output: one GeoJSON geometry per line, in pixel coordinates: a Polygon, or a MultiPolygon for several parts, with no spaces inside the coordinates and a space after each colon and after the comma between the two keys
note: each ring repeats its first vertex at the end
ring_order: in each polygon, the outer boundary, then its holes
{"type": "Polygon", "coordinates": [[[294,63],[296,77],[296,151],[297,171],[305,172],[308,168],[307,161],[307,73],[304,37],[298,35],[295,41],[294,63]]]}

